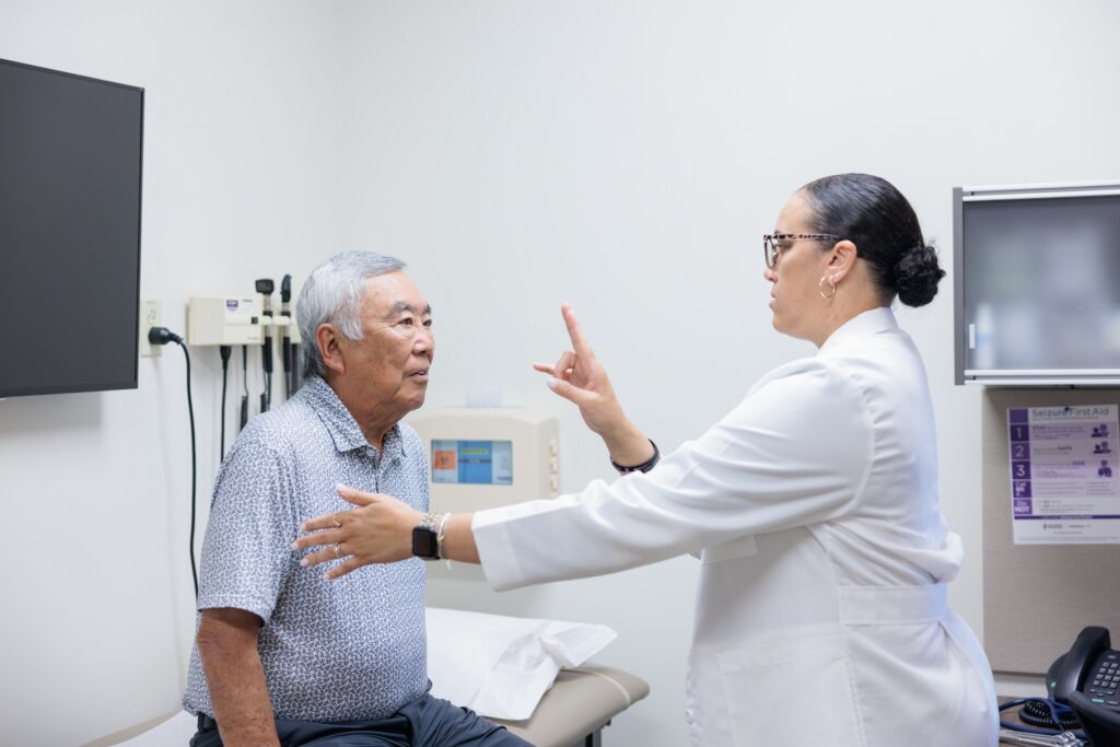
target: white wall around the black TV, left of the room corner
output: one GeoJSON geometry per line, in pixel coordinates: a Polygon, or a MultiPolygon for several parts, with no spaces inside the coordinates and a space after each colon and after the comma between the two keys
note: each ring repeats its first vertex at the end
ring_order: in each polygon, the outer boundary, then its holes
{"type": "MultiPolygon", "coordinates": [[[[300,277],[339,245],[339,38],[310,1],[0,2],[0,57],[146,88],[141,292],[179,332],[187,296],[300,277]]],[[[184,368],[171,347],[136,391],[0,402],[0,743],[75,745],[178,703],[184,368]]],[[[203,516],[218,393],[216,352],[195,351],[203,516]]]]}

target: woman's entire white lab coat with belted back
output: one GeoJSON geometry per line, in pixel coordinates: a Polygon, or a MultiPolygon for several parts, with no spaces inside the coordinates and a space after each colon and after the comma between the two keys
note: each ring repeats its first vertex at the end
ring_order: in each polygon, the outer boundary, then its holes
{"type": "Polygon", "coordinates": [[[491,585],[701,550],[693,747],[988,747],[991,669],[945,605],[962,561],[937,507],[925,370],[888,308],[764,376],[648,474],[473,523],[491,585]]]}

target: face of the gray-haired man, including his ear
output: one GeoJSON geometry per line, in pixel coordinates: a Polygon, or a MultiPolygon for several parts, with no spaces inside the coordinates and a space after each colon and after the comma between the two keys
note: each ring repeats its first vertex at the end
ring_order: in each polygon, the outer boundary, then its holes
{"type": "Polygon", "coordinates": [[[403,418],[423,404],[436,352],[431,308],[403,272],[366,278],[362,301],[363,339],[340,340],[343,376],[365,411],[403,418]]]}

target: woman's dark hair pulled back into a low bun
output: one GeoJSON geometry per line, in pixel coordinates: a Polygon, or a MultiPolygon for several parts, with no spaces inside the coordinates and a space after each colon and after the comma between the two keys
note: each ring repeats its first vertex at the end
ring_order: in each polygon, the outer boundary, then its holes
{"type": "Polygon", "coordinates": [[[856,244],[884,300],[925,306],[945,271],[926,244],[914,208],[893,184],[869,174],[837,174],[801,188],[813,208],[813,231],[856,244]]]}

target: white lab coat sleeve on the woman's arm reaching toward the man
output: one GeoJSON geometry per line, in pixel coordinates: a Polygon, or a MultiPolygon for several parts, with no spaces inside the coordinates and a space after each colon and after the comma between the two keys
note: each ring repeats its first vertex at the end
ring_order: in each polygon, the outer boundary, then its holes
{"type": "Polygon", "coordinates": [[[647,474],[475,514],[491,586],[609,573],[853,511],[874,452],[860,386],[834,363],[776,370],[647,474]]]}

